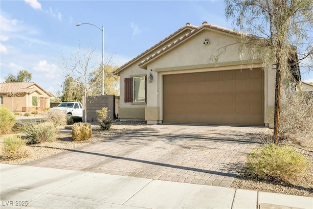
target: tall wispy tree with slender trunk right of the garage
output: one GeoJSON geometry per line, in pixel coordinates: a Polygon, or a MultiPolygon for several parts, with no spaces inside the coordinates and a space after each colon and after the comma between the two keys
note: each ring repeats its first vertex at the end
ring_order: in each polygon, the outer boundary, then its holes
{"type": "Polygon", "coordinates": [[[245,32],[240,44],[242,51],[248,51],[249,60],[262,58],[264,66],[276,63],[277,142],[282,77],[299,81],[300,75],[291,76],[292,65],[310,67],[308,63],[312,63],[313,0],[225,0],[225,5],[226,18],[233,20],[235,29],[245,32]]]}

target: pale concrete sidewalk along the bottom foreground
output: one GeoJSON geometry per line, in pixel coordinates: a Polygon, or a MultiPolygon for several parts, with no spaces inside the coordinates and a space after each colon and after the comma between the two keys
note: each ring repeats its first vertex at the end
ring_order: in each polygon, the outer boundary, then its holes
{"type": "Polygon", "coordinates": [[[3,209],[288,209],[312,197],[195,185],[76,170],[0,164],[3,209]]]}

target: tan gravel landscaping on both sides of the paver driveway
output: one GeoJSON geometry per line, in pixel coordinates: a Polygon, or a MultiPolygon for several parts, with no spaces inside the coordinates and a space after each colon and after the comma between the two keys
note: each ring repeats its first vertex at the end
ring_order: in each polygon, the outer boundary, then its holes
{"type": "MultiPolygon", "coordinates": [[[[68,149],[84,146],[98,140],[108,139],[123,133],[134,131],[136,129],[144,128],[145,126],[147,126],[147,124],[144,121],[119,121],[113,123],[109,131],[103,131],[100,129],[100,126],[92,125],[91,139],[89,141],[79,142],[72,141],[70,127],[67,126],[65,127],[66,129],[62,128],[60,130],[56,140],[45,142],[43,144],[33,144],[27,146],[28,152],[30,154],[29,157],[14,161],[1,160],[1,163],[27,163],[33,160],[64,152],[68,149]]],[[[272,130],[269,130],[267,134],[270,135],[272,134],[271,132],[272,130]]],[[[313,197],[313,142],[306,142],[305,147],[290,141],[285,143],[290,143],[311,162],[310,173],[307,176],[302,177],[298,185],[286,185],[275,181],[260,181],[253,179],[246,174],[244,167],[242,167],[240,168],[239,174],[233,181],[231,187],[313,197]]],[[[1,146],[2,138],[0,138],[0,147],[1,146]]]]}

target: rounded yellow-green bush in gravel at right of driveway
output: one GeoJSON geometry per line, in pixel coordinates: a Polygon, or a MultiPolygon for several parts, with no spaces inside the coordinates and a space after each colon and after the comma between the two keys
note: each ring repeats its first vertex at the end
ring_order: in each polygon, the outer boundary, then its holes
{"type": "Polygon", "coordinates": [[[296,183],[306,174],[310,162],[290,146],[266,144],[252,149],[247,157],[247,172],[260,179],[296,183]]]}

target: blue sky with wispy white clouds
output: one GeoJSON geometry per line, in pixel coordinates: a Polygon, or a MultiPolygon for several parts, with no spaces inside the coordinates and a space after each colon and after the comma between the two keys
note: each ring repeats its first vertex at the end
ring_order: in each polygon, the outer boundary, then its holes
{"type": "MultiPolygon", "coordinates": [[[[0,82],[26,69],[45,91],[56,94],[65,80],[61,54],[91,46],[96,60],[121,66],[184,26],[203,21],[233,28],[222,0],[1,0],[0,82]]],[[[303,72],[302,72],[303,73],[303,72]]],[[[313,72],[302,81],[313,82],[313,72]]]]}

